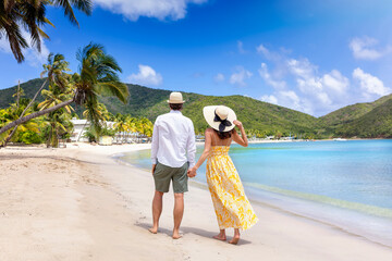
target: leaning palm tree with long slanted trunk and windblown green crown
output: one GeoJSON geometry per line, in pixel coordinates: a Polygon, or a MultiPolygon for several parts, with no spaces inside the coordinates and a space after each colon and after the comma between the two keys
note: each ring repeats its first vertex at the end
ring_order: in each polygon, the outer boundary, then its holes
{"type": "Polygon", "coordinates": [[[99,129],[100,119],[96,113],[98,96],[114,96],[120,99],[120,101],[126,102],[130,95],[128,89],[126,85],[120,82],[117,74],[118,72],[121,72],[121,67],[111,55],[105,52],[102,46],[89,44],[83,49],[79,49],[76,58],[81,62],[81,65],[79,73],[73,75],[74,96],[72,99],[20,117],[0,128],[0,135],[19,124],[70,105],[72,102],[84,105],[90,113],[91,125],[96,129],[99,129]]]}

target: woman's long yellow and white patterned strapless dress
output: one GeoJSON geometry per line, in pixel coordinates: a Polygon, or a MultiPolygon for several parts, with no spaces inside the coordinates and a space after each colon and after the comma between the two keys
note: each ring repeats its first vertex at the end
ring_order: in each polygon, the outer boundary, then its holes
{"type": "Polygon", "coordinates": [[[229,156],[229,146],[212,146],[207,160],[207,183],[220,229],[234,227],[247,229],[258,219],[233,161],[229,156]]]}

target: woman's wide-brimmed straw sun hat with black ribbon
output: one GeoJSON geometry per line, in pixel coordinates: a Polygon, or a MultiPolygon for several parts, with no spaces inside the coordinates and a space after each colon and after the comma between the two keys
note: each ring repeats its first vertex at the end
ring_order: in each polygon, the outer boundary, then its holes
{"type": "Polygon", "coordinates": [[[209,105],[203,109],[207,123],[219,132],[230,132],[235,125],[235,112],[225,105],[209,105]]]}

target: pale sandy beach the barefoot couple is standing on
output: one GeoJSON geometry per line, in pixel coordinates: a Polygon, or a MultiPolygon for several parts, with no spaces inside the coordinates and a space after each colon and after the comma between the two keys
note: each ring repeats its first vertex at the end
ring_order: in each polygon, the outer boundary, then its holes
{"type": "Polygon", "coordinates": [[[392,260],[389,247],[262,203],[240,245],[215,240],[212,202],[199,186],[185,195],[183,238],[171,238],[171,191],[152,235],[151,174],[111,157],[148,147],[1,149],[0,260],[392,260]]]}

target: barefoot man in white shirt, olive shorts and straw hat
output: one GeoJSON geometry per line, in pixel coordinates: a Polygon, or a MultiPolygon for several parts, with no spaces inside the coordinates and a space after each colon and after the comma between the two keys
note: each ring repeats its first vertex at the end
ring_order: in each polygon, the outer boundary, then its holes
{"type": "Polygon", "coordinates": [[[187,171],[195,165],[195,129],[192,121],[183,116],[181,92],[171,92],[168,100],[170,113],[157,117],[152,130],[151,160],[156,191],[152,200],[152,227],[157,234],[162,213],[162,197],[174,191],[174,228],[172,237],[179,239],[180,224],[184,213],[184,192],[187,191],[187,171]]]}

